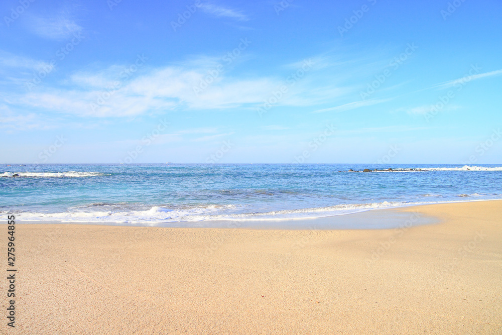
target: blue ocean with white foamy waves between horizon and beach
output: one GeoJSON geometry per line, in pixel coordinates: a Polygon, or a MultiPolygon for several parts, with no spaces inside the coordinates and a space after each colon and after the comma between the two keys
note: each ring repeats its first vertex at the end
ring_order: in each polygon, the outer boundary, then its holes
{"type": "Polygon", "coordinates": [[[488,199],[502,199],[500,165],[0,165],[0,213],[21,221],[165,227],[488,199]]]}

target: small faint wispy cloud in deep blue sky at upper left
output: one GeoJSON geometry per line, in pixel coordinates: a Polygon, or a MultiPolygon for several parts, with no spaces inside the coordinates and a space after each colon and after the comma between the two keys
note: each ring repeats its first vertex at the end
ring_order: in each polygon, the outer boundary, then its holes
{"type": "Polygon", "coordinates": [[[83,30],[66,15],[52,17],[32,17],[30,30],[43,38],[64,40],[83,30]]]}

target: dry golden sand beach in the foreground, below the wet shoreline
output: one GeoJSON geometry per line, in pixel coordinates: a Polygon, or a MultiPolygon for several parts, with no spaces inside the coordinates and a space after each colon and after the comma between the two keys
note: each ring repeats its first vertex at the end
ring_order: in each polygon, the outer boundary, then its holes
{"type": "Polygon", "coordinates": [[[502,201],[395,210],[441,223],[365,231],[20,224],[16,329],[3,316],[0,330],[502,333],[502,201]]]}

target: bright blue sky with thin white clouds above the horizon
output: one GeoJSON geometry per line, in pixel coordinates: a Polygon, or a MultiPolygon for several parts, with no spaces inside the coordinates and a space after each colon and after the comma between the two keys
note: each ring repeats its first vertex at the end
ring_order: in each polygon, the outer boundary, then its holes
{"type": "Polygon", "coordinates": [[[499,1],[5,0],[0,163],[502,163],[499,1]]]}

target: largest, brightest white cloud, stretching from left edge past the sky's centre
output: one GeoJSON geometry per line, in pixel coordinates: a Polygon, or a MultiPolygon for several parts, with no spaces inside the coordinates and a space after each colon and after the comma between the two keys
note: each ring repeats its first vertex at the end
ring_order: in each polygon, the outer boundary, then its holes
{"type": "MultiPolygon", "coordinates": [[[[238,107],[263,101],[280,81],[271,78],[238,79],[220,75],[198,95],[193,87],[207,75],[207,70],[168,66],[152,69],[120,87],[109,83],[120,80],[114,71],[78,73],[65,84],[71,89],[40,87],[25,94],[11,94],[13,104],[62,114],[90,117],[134,116],[149,111],[175,108],[208,110],[238,107]],[[106,96],[105,99],[100,99],[106,96]],[[98,104],[92,108],[91,103],[98,104]]],[[[285,101],[286,102],[286,99],[285,101]]]]}

